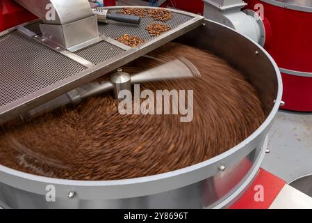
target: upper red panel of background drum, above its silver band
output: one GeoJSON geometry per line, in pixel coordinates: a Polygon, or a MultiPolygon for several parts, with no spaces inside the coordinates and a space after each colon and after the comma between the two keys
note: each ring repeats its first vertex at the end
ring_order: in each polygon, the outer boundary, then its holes
{"type": "Polygon", "coordinates": [[[312,13],[246,0],[247,8],[263,4],[264,16],[270,22],[272,36],[265,49],[279,68],[312,72],[312,13]]]}

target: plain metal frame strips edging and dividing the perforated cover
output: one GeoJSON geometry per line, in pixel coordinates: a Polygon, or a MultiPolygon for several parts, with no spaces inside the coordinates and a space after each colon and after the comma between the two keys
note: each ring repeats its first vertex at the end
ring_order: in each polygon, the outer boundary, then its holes
{"type": "MultiPolygon", "coordinates": [[[[124,7],[116,6],[116,7],[108,7],[108,8],[124,8],[124,7]]],[[[153,8],[153,7],[133,6],[133,8],[153,8]]],[[[157,36],[153,38],[152,40],[149,40],[143,43],[139,47],[128,49],[124,53],[119,54],[113,57],[112,59],[108,59],[102,63],[99,63],[96,66],[92,66],[92,63],[88,63],[88,61],[79,59],[79,57],[74,56],[74,54],[69,54],[69,52],[65,52],[64,51],[65,49],[63,49],[63,47],[55,45],[51,43],[49,40],[42,38],[41,36],[35,36],[34,38],[36,40],[41,40],[40,43],[43,43],[44,45],[48,45],[51,49],[54,49],[56,52],[63,51],[63,55],[69,57],[69,59],[74,60],[76,63],[83,64],[83,66],[88,67],[88,68],[74,75],[74,77],[69,77],[67,79],[64,79],[63,81],[60,81],[56,84],[48,86],[45,89],[37,91],[31,95],[27,95],[26,97],[20,100],[16,100],[15,102],[11,102],[10,104],[6,106],[1,107],[0,108],[0,123],[4,121],[8,121],[10,118],[17,117],[22,112],[26,112],[30,109],[38,107],[39,105],[42,105],[44,102],[57,98],[58,96],[64,93],[67,93],[68,91],[76,89],[77,87],[81,86],[81,84],[88,83],[94,79],[97,79],[98,77],[105,75],[106,73],[110,71],[120,68],[120,66],[123,66],[124,64],[129,63],[130,61],[138,59],[138,57],[144,54],[147,54],[148,52],[151,52],[152,50],[160,47],[161,45],[164,45],[165,43],[168,43],[171,40],[174,40],[175,38],[178,38],[184,33],[188,33],[192,29],[195,29],[196,27],[203,24],[204,17],[200,15],[181,12],[179,10],[174,10],[174,9],[167,9],[167,10],[170,10],[174,13],[189,15],[190,17],[193,17],[193,18],[189,20],[188,22],[185,22],[181,24],[180,26],[176,27],[175,29],[167,31],[166,33],[163,33],[163,35],[157,36]]],[[[36,20],[36,22],[38,22],[38,20],[36,20]]],[[[15,31],[17,27],[19,26],[16,26],[13,29],[10,29],[9,31],[1,32],[0,37],[12,31],[15,31]]],[[[106,39],[103,37],[101,38],[102,40],[104,39],[108,43],[113,43],[113,45],[120,47],[119,43],[116,44],[114,41],[110,39],[106,39]]],[[[122,47],[122,49],[125,49],[125,47],[122,47]]]]}

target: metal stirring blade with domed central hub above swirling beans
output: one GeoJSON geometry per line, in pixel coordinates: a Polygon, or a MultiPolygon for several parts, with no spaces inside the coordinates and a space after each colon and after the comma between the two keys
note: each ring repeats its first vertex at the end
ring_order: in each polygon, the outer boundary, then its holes
{"type": "Polygon", "coordinates": [[[69,91],[54,100],[46,102],[35,109],[31,109],[30,111],[21,114],[19,117],[24,121],[28,121],[35,116],[51,112],[58,107],[71,103],[79,103],[81,100],[92,95],[99,95],[112,90],[114,91],[115,98],[118,99],[118,93],[125,89],[131,90],[132,84],[193,77],[200,77],[200,72],[184,57],[179,57],[173,61],[162,63],[154,68],[139,72],[132,76],[119,69],[118,72],[110,77],[109,81],[85,84],[78,89],[69,91]]]}

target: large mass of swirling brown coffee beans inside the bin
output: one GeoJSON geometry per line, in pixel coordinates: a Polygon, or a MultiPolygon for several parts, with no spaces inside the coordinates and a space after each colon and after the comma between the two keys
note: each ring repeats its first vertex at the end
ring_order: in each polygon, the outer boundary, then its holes
{"type": "Polygon", "coordinates": [[[201,77],[145,83],[140,89],[193,90],[189,123],[181,123],[181,115],[120,114],[120,102],[108,92],[28,123],[6,123],[0,128],[0,164],[52,178],[137,178],[204,162],[258,129],[265,114],[256,89],[210,52],[169,43],[149,54],[159,60],[142,57],[123,70],[133,75],[181,55],[201,77]]]}

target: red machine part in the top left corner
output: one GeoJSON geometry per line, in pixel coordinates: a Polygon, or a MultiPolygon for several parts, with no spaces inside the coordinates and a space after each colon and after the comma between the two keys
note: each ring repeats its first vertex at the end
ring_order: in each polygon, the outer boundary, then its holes
{"type": "Polygon", "coordinates": [[[13,0],[1,1],[0,5],[0,31],[37,19],[13,0]]]}

